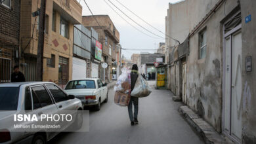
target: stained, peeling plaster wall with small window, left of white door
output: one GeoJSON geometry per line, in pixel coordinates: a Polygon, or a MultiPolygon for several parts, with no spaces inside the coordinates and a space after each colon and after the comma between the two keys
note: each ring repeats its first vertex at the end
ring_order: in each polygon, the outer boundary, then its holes
{"type": "MultiPolygon", "coordinates": [[[[212,3],[212,1],[208,2],[212,3]]],[[[194,5],[196,9],[197,6],[194,5]]],[[[237,6],[238,3],[227,0],[226,14],[237,6]]],[[[190,54],[187,62],[187,104],[218,132],[222,130],[223,24],[221,21],[225,18],[223,10],[224,5],[221,5],[209,20],[190,37],[190,54]],[[205,28],[207,31],[206,58],[199,60],[199,33],[205,28]]]]}

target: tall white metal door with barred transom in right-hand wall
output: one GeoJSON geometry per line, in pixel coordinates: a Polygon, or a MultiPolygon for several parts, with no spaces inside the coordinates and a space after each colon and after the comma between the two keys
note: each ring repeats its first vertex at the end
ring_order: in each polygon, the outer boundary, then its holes
{"type": "Polygon", "coordinates": [[[238,143],[242,138],[241,14],[224,25],[224,134],[238,143]],[[236,22],[235,22],[235,21],[236,22]]]}

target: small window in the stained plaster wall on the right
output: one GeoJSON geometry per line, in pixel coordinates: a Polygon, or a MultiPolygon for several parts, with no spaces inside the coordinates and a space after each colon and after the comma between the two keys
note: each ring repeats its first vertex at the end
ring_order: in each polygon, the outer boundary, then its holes
{"type": "Polygon", "coordinates": [[[206,29],[203,29],[202,32],[199,33],[199,41],[200,41],[200,49],[199,49],[199,59],[205,58],[206,50],[207,50],[207,35],[206,29]]]}

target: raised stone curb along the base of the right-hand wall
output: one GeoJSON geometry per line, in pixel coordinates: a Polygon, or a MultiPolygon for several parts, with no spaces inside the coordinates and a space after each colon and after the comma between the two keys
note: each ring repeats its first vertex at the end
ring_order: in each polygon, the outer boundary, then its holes
{"type": "Polygon", "coordinates": [[[203,137],[203,140],[207,144],[231,144],[232,141],[222,137],[215,129],[205,122],[200,116],[198,116],[188,106],[181,106],[178,109],[179,113],[187,120],[196,131],[203,137]]]}

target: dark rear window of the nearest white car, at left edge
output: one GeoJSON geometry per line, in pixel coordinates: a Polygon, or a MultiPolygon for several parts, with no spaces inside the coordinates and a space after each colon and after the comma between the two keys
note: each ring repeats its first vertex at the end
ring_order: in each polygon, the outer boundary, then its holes
{"type": "Polygon", "coordinates": [[[18,87],[0,87],[0,111],[17,110],[18,87]]]}

